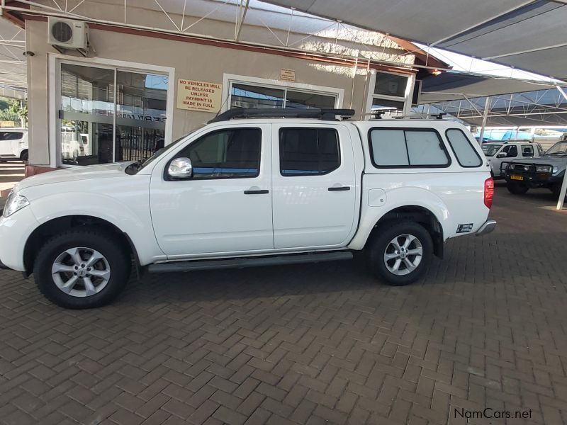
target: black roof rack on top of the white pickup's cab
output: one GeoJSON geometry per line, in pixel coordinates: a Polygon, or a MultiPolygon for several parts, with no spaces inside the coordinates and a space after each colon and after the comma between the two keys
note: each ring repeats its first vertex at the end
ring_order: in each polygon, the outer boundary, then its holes
{"type": "Polygon", "coordinates": [[[208,124],[228,121],[233,118],[318,118],[320,120],[336,120],[337,115],[348,119],[354,115],[354,109],[234,108],[209,120],[208,124]]]}

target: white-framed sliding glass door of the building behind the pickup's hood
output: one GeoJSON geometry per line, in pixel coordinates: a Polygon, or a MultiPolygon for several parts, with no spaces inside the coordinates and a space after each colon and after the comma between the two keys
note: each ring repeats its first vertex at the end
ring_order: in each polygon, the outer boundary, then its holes
{"type": "Polygon", "coordinates": [[[165,143],[168,77],[60,63],[61,163],[143,161],[165,143]]]}

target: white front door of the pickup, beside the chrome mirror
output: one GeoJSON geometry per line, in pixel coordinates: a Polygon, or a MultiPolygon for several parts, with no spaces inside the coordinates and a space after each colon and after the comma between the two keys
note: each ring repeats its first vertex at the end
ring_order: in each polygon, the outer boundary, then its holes
{"type": "Polygon", "coordinates": [[[270,126],[215,128],[152,171],[150,208],[169,258],[274,249],[270,126]],[[193,177],[167,178],[169,163],[191,159],[193,177]]]}

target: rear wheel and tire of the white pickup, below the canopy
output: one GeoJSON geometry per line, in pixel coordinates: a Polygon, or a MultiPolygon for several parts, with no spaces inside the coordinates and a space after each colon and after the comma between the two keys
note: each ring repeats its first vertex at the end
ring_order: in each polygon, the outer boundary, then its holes
{"type": "Polygon", "coordinates": [[[409,285],[425,273],[432,253],[433,242],[425,227],[410,220],[390,221],[376,229],[376,236],[369,245],[369,268],[388,285],[409,285]],[[408,239],[410,243],[404,246],[408,239]],[[395,248],[394,241],[397,241],[400,251],[395,248]],[[418,249],[421,249],[421,255],[417,254],[418,249]],[[412,251],[415,254],[410,254],[412,251]],[[414,266],[412,270],[409,264],[414,266]]]}

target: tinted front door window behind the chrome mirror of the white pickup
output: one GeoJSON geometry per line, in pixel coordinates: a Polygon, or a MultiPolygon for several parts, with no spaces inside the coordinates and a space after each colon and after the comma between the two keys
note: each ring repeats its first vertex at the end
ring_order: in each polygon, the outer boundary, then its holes
{"type": "Polygon", "coordinates": [[[204,135],[181,150],[193,164],[193,179],[237,179],[260,173],[262,130],[231,128],[204,135]]]}

